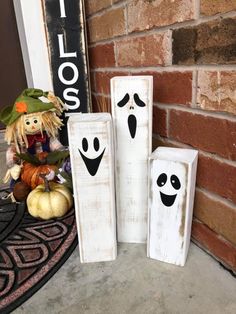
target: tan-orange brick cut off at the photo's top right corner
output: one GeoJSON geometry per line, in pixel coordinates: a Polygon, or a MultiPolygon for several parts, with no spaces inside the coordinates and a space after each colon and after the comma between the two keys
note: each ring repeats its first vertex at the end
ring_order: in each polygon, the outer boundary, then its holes
{"type": "Polygon", "coordinates": [[[201,0],[201,14],[215,15],[236,10],[235,0],[201,0]]]}

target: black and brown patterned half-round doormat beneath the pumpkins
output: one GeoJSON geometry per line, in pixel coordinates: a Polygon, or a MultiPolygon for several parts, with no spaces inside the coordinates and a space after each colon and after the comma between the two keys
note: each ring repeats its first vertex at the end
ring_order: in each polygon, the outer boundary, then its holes
{"type": "Polygon", "coordinates": [[[77,245],[74,209],[40,221],[25,203],[0,203],[0,313],[25,302],[65,263],[77,245]]]}

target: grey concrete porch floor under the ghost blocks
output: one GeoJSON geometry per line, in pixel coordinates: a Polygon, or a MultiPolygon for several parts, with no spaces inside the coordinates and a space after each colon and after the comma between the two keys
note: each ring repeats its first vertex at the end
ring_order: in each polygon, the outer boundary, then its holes
{"type": "Polygon", "coordinates": [[[78,247],[14,314],[235,314],[236,280],[191,243],[184,267],[119,244],[114,262],[80,264],[78,247]]]}

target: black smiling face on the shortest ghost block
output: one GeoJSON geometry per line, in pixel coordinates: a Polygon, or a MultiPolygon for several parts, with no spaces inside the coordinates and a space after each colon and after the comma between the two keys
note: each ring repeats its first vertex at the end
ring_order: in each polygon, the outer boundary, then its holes
{"type": "Polygon", "coordinates": [[[180,189],[181,183],[179,178],[175,174],[172,174],[170,177],[168,177],[166,173],[162,173],[157,178],[157,185],[160,188],[161,201],[165,206],[170,207],[174,204],[177,193],[165,194],[161,191],[161,188],[165,186],[168,180],[170,181],[171,186],[174,190],[176,190],[176,192],[180,189]]]}

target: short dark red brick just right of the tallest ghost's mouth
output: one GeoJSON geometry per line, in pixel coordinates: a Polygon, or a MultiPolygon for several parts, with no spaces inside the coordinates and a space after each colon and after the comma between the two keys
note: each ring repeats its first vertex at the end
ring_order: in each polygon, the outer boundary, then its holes
{"type": "Polygon", "coordinates": [[[153,107],[153,132],[167,136],[167,111],[156,106],[153,107]]]}

